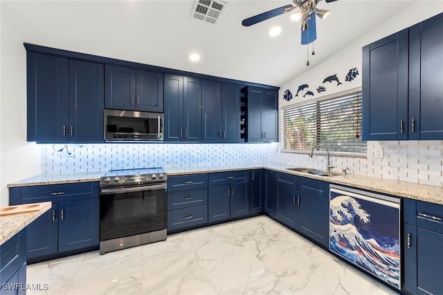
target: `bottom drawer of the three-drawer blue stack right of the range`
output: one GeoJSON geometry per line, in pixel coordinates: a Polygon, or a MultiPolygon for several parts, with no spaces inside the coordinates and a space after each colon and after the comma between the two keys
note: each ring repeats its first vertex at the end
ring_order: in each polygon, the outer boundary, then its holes
{"type": "Polygon", "coordinates": [[[208,222],[208,205],[168,211],[168,229],[181,229],[208,222]]]}

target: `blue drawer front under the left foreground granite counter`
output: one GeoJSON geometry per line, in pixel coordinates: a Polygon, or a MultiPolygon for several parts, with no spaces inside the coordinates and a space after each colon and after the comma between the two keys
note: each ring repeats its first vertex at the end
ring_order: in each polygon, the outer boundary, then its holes
{"type": "Polygon", "coordinates": [[[0,287],[26,263],[26,229],[0,246],[0,287]]]}

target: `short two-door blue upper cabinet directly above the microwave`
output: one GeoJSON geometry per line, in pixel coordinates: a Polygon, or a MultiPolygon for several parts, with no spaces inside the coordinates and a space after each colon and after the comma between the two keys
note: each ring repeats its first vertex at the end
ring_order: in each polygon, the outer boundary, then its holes
{"type": "Polygon", "coordinates": [[[163,74],[105,66],[105,108],[163,112],[163,74]]]}

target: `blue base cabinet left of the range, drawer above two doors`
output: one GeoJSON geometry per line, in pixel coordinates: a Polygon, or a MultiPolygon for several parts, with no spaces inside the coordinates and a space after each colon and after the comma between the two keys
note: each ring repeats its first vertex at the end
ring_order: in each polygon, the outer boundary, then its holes
{"type": "Polygon", "coordinates": [[[28,262],[98,246],[98,182],[10,188],[11,205],[48,201],[53,207],[26,229],[28,262]]]}

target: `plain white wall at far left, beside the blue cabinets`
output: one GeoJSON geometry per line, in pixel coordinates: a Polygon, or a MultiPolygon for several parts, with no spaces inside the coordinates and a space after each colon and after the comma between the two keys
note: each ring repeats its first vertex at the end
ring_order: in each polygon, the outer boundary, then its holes
{"type": "MultiPolygon", "coordinates": [[[[1,9],[1,2],[0,2],[1,9]]],[[[26,50],[1,19],[0,207],[9,204],[6,185],[40,173],[40,149],[26,142],[26,50]]]]}

